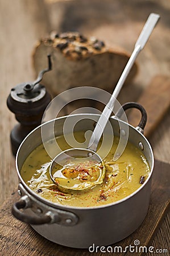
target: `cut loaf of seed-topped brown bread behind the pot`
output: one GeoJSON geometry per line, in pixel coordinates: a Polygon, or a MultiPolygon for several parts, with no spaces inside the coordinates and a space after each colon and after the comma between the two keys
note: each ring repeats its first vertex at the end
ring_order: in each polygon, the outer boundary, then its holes
{"type": "MultiPolygon", "coordinates": [[[[52,56],[53,69],[44,75],[43,84],[52,96],[76,86],[96,86],[113,92],[129,58],[125,50],[107,48],[104,42],[78,32],[53,33],[41,39],[34,49],[36,75],[47,67],[48,54],[52,56]]],[[[134,64],[126,83],[136,71],[134,64]]]]}

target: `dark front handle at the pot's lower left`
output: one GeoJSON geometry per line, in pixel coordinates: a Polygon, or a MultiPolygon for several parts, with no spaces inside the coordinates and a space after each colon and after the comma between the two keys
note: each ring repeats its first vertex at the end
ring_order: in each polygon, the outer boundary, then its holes
{"type": "Polygon", "coordinates": [[[38,217],[38,216],[30,216],[25,212],[21,212],[20,209],[31,208],[31,205],[27,200],[28,197],[27,198],[26,197],[27,196],[21,197],[19,201],[13,204],[12,213],[16,218],[18,218],[18,220],[26,222],[28,224],[32,224],[32,225],[41,225],[41,224],[49,223],[52,221],[50,214],[47,214],[47,213],[44,214],[44,216],[42,217],[38,217]]]}

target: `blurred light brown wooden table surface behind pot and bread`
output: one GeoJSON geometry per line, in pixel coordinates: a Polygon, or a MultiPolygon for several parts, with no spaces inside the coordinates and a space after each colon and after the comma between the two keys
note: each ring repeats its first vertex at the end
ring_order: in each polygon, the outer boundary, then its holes
{"type": "MultiPolygon", "coordinates": [[[[122,90],[119,101],[123,103],[125,101],[138,100],[140,92],[147,86],[152,77],[157,74],[169,75],[170,2],[168,0],[81,0],[77,1],[78,5],[75,5],[75,2],[0,0],[1,204],[16,190],[18,185],[15,159],[10,150],[10,131],[16,121],[14,114],[7,109],[6,99],[11,88],[35,78],[32,70],[31,54],[36,40],[48,35],[54,29],[59,31],[77,29],[87,36],[94,35],[100,39],[103,39],[102,36],[104,35],[106,43],[119,44],[119,46],[128,51],[132,51],[134,42],[148,14],[151,12],[160,13],[160,23],[155,28],[150,41],[138,58],[140,72],[132,85],[127,85],[122,90]],[[103,2],[106,4],[105,9],[103,9],[103,2]],[[107,11],[108,14],[106,15],[107,11]],[[93,15],[91,15],[92,13],[93,15]],[[86,23],[84,21],[85,18],[88,18],[89,22],[86,23]],[[77,22],[78,20],[80,21],[79,23],[77,22]],[[131,90],[131,86],[134,86],[136,90],[131,90]]],[[[170,115],[168,112],[149,139],[154,149],[155,158],[167,163],[170,163],[169,125],[170,115]]],[[[169,215],[167,214],[152,245],[156,248],[168,248],[168,234],[169,215]]]]}

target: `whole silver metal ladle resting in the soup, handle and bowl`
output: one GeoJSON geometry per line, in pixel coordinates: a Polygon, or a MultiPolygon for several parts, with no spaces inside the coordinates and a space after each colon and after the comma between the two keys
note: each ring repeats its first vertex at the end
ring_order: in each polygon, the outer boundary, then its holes
{"type": "Polygon", "coordinates": [[[94,187],[94,185],[101,184],[103,182],[103,179],[105,177],[105,166],[102,162],[101,157],[96,153],[99,139],[101,138],[103,130],[105,129],[106,123],[109,120],[109,117],[113,111],[115,99],[117,98],[120,90],[122,89],[122,86],[126,80],[128,73],[130,72],[132,65],[134,64],[136,57],[138,56],[139,52],[144,48],[145,44],[147,43],[147,40],[150,37],[151,32],[154,30],[154,27],[157,21],[159,20],[159,18],[160,16],[154,13],[151,13],[150,16],[148,16],[148,19],[143,27],[143,30],[140,33],[139,38],[135,43],[134,51],[132,52],[132,55],[126,64],[126,67],[117,83],[117,86],[114,89],[112,96],[110,97],[109,102],[103,109],[103,112],[98,119],[96,127],[93,131],[92,137],[90,138],[88,148],[87,149],[70,148],[68,150],[61,152],[59,155],[57,155],[53,159],[49,169],[49,174],[51,176],[53,183],[55,183],[61,191],[63,192],[82,191],[84,189],[94,187]],[[53,168],[55,168],[56,163],[60,164],[61,166],[64,166],[64,163],[71,159],[72,159],[72,162],[69,161],[70,163],[68,165],[68,167],[71,169],[76,168],[78,164],[77,159],[81,159],[80,162],[83,162],[84,166],[86,162],[92,161],[94,166],[96,164],[100,168],[102,164],[103,168],[101,168],[101,170],[98,172],[98,177],[96,180],[85,181],[84,183],[82,183],[82,181],[80,182],[76,181],[76,183],[73,183],[72,182],[74,180],[73,178],[65,177],[63,175],[62,171],[64,169],[62,168],[56,171],[54,175],[52,175],[52,171],[53,171],[53,168]]]}

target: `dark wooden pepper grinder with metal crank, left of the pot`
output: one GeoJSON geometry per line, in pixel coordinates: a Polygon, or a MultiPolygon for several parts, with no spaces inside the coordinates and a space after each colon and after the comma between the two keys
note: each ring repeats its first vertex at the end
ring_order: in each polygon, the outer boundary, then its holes
{"type": "Polygon", "coordinates": [[[19,122],[10,134],[14,156],[26,135],[41,124],[44,110],[51,101],[50,94],[42,84],[39,84],[44,73],[51,69],[51,56],[48,55],[48,68],[42,70],[34,82],[26,82],[12,88],[7,98],[7,106],[19,122]]]}

